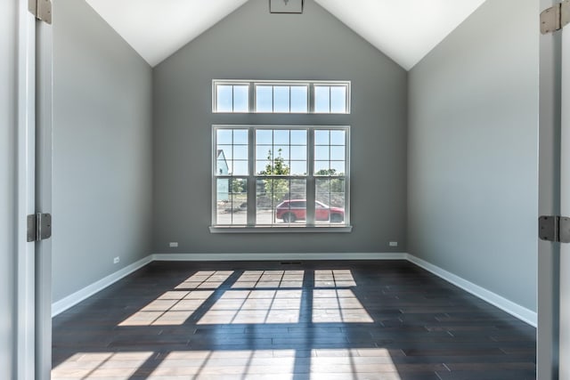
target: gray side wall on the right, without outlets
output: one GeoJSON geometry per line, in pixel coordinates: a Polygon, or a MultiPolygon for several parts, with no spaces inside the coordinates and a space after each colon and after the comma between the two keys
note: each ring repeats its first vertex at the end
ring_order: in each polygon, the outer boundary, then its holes
{"type": "Polygon", "coordinates": [[[486,2],[409,78],[409,252],[533,311],[538,12],[486,2]]]}

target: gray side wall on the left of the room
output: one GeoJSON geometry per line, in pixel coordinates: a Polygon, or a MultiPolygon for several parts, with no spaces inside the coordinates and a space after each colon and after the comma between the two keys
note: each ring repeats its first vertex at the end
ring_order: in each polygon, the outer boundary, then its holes
{"type": "Polygon", "coordinates": [[[85,1],[56,0],[53,19],[58,301],[151,253],[152,80],[85,1]]]}

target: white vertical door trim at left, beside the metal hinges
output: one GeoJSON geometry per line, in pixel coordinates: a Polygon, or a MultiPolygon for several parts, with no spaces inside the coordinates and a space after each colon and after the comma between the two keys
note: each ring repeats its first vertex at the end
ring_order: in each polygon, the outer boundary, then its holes
{"type": "Polygon", "coordinates": [[[36,19],[18,1],[17,226],[15,376],[36,376],[36,244],[27,242],[27,215],[36,213],[36,19]]]}

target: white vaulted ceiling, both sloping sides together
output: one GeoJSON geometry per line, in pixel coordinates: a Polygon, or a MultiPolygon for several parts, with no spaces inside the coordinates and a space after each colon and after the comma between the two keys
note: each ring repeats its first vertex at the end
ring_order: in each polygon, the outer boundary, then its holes
{"type": "MultiPolygon", "coordinates": [[[[153,67],[247,1],[86,0],[153,67]]],[[[404,69],[411,69],[485,2],[314,1],[404,69]]]]}

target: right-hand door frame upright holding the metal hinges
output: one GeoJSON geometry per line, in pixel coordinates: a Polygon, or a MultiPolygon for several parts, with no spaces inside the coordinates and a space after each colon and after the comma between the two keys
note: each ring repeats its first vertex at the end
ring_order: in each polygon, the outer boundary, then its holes
{"type": "MultiPolygon", "coordinates": [[[[560,0],[540,0],[538,12],[559,3],[560,0]]],[[[536,30],[539,33],[538,18],[536,30]]],[[[560,32],[540,36],[539,215],[559,215],[561,213],[561,42],[560,32]]],[[[536,374],[540,379],[558,379],[560,243],[538,240],[537,260],[536,374]]]]}

